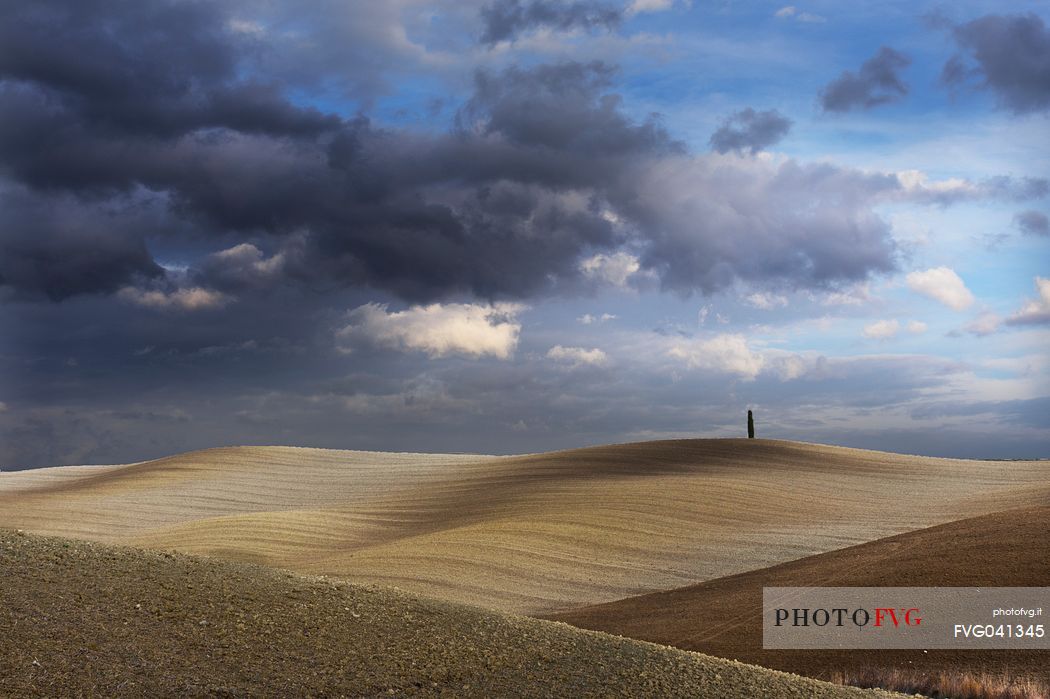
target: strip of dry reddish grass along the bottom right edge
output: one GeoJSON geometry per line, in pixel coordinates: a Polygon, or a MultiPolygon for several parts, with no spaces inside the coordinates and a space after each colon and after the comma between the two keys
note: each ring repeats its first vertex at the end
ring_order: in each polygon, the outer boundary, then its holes
{"type": "Polygon", "coordinates": [[[899,668],[869,668],[835,673],[832,681],[865,689],[921,694],[934,699],[1050,699],[1050,687],[1043,682],[987,673],[920,673],[899,668]]]}

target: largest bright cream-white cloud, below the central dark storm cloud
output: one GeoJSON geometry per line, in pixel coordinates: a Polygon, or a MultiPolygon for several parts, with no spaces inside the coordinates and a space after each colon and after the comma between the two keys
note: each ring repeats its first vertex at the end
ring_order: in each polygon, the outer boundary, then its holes
{"type": "Polygon", "coordinates": [[[336,335],[351,351],[360,340],[430,357],[489,355],[508,359],[518,346],[521,323],[518,303],[432,303],[387,311],[384,303],[365,303],[350,312],[350,324],[336,335]]]}

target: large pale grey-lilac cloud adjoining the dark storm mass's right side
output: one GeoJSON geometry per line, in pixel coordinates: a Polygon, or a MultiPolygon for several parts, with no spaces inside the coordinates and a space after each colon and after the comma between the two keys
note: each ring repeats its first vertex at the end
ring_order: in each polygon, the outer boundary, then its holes
{"type": "Polygon", "coordinates": [[[682,157],[635,187],[629,211],[649,236],[643,262],[665,289],[710,293],[734,280],[823,289],[896,268],[889,227],[872,209],[899,191],[892,175],[682,157]]]}

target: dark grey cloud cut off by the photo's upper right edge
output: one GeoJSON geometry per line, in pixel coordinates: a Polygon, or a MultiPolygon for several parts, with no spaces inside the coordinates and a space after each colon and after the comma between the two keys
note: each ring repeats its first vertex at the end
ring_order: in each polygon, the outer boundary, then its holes
{"type": "Polygon", "coordinates": [[[944,66],[948,85],[991,89],[1015,113],[1050,107],[1050,29],[1036,15],[987,15],[951,29],[963,49],[944,66]]]}

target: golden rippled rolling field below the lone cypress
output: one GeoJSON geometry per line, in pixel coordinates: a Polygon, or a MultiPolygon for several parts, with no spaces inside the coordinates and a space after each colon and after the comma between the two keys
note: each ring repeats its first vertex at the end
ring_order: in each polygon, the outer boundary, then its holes
{"type": "Polygon", "coordinates": [[[516,458],[238,447],[0,473],[0,526],[539,613],[1036,504],[1048,493],[1037,462],[765,440],[516,458]]]}

